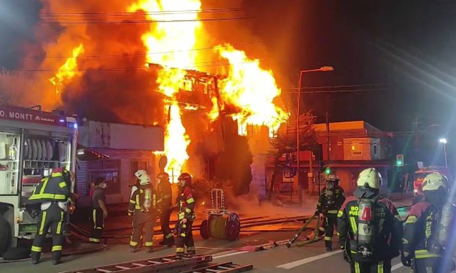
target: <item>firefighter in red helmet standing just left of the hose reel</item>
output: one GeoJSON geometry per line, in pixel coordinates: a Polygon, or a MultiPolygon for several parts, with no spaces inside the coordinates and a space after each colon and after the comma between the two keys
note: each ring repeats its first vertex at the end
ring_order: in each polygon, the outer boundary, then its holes
{"type": "Polygon", "coordinates": [[[188,173],[182,173],[179,176],[178,181],[178,220],[175,228],[177,236],[176,257],[182,257],[185,254],[185,246],[187,246],[187,255],[193,256],[196,254],[196,251],[192,235],[192,224],[195,219],[195,199],[193,198],[192,176],[188,173]]]}

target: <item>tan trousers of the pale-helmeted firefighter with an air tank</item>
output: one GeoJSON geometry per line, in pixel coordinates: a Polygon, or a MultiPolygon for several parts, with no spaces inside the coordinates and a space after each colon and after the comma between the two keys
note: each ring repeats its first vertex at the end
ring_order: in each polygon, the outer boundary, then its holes
{"type": "Polygon", "coordinates": [[[135,211],[133,217],[133,233],[131,236],[130,247],[136,249],[139,242],[141,242],[142,235],[144,234],[144,246],[146,249],[154,247],[154,226],[156,214],[150,212],[144,213],[139,210],[135,211]]]}

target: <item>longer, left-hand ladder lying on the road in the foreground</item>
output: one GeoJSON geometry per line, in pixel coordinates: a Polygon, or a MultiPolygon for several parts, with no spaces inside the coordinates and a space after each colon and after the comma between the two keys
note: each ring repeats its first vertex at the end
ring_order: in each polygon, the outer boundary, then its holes
{"type": "Polygon", "coordinates": [[[209,263],[211,261],[211,255],[201,255],[180,259],[175,259],[175,256],[170,255],[110,265],[101,265],[93,268],[66,271],[63,273],[192,272],[194,268],[203,268],[209,266],[209,263]]]}

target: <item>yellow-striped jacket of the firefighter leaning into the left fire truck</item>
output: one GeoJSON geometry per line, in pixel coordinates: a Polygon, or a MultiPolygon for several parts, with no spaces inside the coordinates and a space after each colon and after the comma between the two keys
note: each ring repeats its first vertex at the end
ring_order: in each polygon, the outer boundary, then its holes
{"type": "Polygon", "coordinates": [[[67,170],[51,173],[35,186],[28,203],[66,202],[71,196],[70,186],[71,181],[67,170]]]}

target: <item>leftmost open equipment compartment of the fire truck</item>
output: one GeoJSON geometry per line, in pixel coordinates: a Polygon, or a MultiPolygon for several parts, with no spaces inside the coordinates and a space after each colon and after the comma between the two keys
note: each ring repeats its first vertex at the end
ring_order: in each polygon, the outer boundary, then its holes
{"type": "Polygon", "coordinates": [[[17,194],[19,134],[0,132],[0,195],[17,194]]]}

